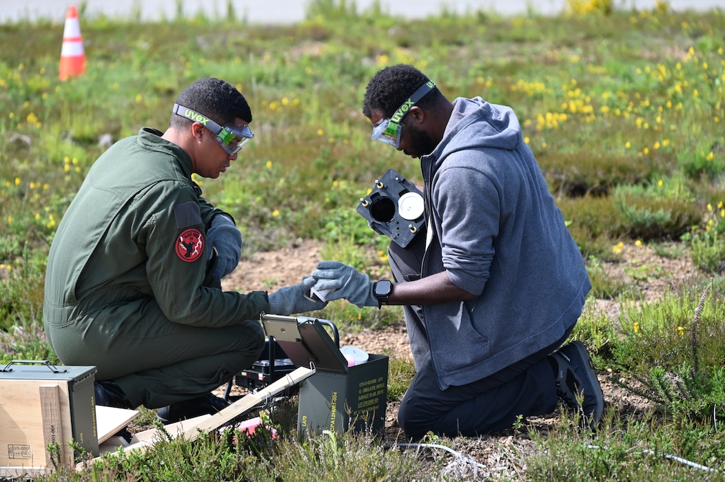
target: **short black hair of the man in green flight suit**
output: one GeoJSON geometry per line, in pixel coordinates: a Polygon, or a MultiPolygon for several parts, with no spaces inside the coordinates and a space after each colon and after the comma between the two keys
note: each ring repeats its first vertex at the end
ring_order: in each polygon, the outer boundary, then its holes
{"type": "MultiPolygon", "coordinates": [[[[183,89],[176,104],[206,115],[219,125],[234,122],[237,117],[252,122],[252,109],[247,99],[234,86],[224,80],[206,77],[183,89]]],[[[170,125],[182,126],[192,122],[180,115],[171,115],[170,125]]]]}

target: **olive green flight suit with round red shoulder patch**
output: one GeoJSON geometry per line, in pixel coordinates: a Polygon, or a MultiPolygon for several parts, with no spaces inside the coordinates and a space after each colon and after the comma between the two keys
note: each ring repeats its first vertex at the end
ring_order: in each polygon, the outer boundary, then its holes
{"type": "Polygon", "coordinates": [[[264,347],[267,294],[204,285],[204,236],[219,212],[191,158],[143,128],[96,160],[63,216],[46,270],[43,322],[65,365],[96,365],[134,407],[207,394],[264,347]]]}

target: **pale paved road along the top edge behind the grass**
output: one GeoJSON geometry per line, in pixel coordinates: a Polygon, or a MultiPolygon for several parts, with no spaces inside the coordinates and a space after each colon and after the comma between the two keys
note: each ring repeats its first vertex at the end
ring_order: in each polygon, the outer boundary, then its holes
{"type": "MultiPolygon", "coordinates": [[[[250,23],[289,24],[299,22],[305,17],[306,0],[179,0],[183,12],[191,16],[203,10],[207,16],[215,18],[226,13],[228,1],[231,1],[239,18],[250,23]]],[[[348,3],[352,3],[349,0],[348,3]]],[[[355,0],[357,11],[368,9],[374,0],[355,0]]],[[[499,14],[522,14],[527,11],[539,14],[561,12],[566,0],[381,0],[384,11],[407,18],[423,18],[438,14],[442,8],[459,13],[483,10],[499,14]],[[535,7],[531,7],[535,5],[535,7]],[[444,6],[444,7],[443,7],[444,6]]],[[[17,20],[37,20],[38,18],[65,22],[65,11],[69,5],[80,7],[85,4],[84,14],[95,17],[104,14],[107,17],[133,17],[136,12],[141,20],[159,20],[176,16],[177,0],[0,0],[0,23],[17,20]]],[[[618,7],[652,9],[655,0],[614,0],[618,7]]],[[[669,0],[675,10],[725,9],[725,0],[669,0]]],[[[81,18],[81,22],[83,19],[81,18]]]]}

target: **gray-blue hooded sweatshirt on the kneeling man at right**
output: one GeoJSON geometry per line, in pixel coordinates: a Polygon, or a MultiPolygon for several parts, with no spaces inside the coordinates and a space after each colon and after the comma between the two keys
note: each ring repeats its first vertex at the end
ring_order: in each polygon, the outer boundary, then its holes
{"type": "Polygon", "coordinates": [[[513,109],[455,99],[442,141],[421,157],[428,242],[421,275],[447,272],[476,298],[408,320],[415,364],[441,389],[539,352],[576,324],[589,283],[513,109]]]}

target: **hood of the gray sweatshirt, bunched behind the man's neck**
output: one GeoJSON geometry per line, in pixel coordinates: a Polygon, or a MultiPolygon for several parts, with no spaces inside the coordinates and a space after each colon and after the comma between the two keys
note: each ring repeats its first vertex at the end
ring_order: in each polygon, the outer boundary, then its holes
{"type": "Polygon", "coordinates": [[[438,164],[439,159],[462,149],[489,147],[513,151],[521,142],[521,125],[513,109],[490,104],[481,97],[458,97],[453,101],[453,112],[442,141],[423,158],[432,157],[438,164]]]}

